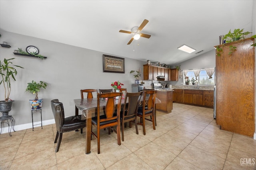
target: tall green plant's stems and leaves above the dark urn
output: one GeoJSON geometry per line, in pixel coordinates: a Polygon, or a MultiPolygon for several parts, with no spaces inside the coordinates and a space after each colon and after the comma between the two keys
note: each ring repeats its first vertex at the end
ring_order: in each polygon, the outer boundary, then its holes
{"type": "Polygon", "coordinates": [[[0,61],[0,76],[1,81],[0,84],[4,86],[4,100],[8,102],[9,96],[11,93],[11,79],[16,81],[15,76],[17,75],[16,68],[23,68],[22,66],[12,64],[12,59],[4,59],[4,61],[0,61]]]}

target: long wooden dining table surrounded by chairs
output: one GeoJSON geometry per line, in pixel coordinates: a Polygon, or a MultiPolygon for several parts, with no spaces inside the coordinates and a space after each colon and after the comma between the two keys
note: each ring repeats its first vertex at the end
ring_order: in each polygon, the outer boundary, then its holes
{"type": "MultiPolygon", "coordinates": [[[[143,97],[140,99],[140,104],[142,104],[143,97]]],[[[128,102],[128,101],[127,101],[128,102]]],[[[85,99],[74,99],[75,113],[78,115],[78,111],[82,111],[81,119],[86,121],[86,145],[85,145],[85,153],[89,154],[91,151],[91,130],[92,130],[92,117],[97,116],[95,113],[97,112],[97,98],[85,98],[85,99]]],[[[100,98],[100,111],[102,114],[103,108],[106,106],[107,99],[100,98]]],[[[116,100],[115,104],[117,105],[118,100],[116,100]]],[[[155,103],[161,103],[161,101],[156,98],[155,103]]],[[[122,98],[121,104],[124,105],[124,99],[122,98]]],[[[156,108],[156,107],[155,107],[156,108]]],[[[156,120],[156,109],[154,109],[154,117],[156,120]]]]}

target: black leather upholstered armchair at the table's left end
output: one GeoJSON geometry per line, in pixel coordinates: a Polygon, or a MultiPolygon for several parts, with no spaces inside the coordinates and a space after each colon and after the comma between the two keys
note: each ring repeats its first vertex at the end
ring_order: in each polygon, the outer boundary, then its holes
{"type": "Polygon", "coordinates": [[[54,143],[57,142],[55,152],[58,152],[62,139],[62,133],[81,129],[86,127],[85,120],[81,120],[81,115],[65,117],[63,104],[58,99],[51,100],[52,113],[54,115],[57,134],[54,143]]]}

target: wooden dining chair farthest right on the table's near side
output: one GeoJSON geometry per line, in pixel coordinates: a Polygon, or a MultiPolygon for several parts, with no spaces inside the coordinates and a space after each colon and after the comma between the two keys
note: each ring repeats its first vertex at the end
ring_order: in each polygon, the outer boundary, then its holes
{"type": "Polygon", "coordinates": [[[142,125],[142,127],[143,127],[143,135],[146,135],[145,120],[152,121],[153,129],[154,130],[156,129],[155,116],[154,116],[155,115],[154,113],[155,113],[156,92],[157,92],[156,90],[144,91],[142,107],[138,108],[137,115],[140,117],[140,123],[138,123],[138,124],[142,125]],[[152,116],[152,120],[146,118],[148,116],[152,116]]]}

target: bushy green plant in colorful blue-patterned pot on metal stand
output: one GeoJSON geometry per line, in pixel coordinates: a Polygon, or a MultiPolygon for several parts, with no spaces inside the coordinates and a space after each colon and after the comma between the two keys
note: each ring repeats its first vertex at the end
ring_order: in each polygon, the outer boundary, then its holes
{"type": "Polygon", "coordinates": [[[46,89],[46,86],[48,83],[40,81],[40,83],[34,82],[32,80],[31,83],[28,83],[28,86],[25,90],[25,92],[30,92],[31,94],[36,94],[36,97],[34,99],[30,99],[30,104],[31,104],[31,109],[41,109],[42,108],[42,103],[43,99],[38,99],[38,92],[40,92],[40,88],[46,89]]]}

